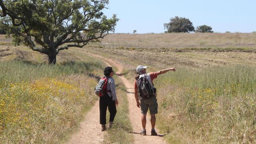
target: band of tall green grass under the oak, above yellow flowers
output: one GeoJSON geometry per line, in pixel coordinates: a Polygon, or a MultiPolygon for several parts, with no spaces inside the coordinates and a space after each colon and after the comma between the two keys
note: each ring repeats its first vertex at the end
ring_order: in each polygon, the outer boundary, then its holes
{"type": "Polygon", "coordinates": [[[65,74],[96,74],[102,71],[104,65],[100,61],[75,62],[66,61],[61,64],[48,65],[46,63],[32,63],[30,61],[0,62],[0,86],[11,83],[31,81],[42,77],[55,77],[65,74]]]}

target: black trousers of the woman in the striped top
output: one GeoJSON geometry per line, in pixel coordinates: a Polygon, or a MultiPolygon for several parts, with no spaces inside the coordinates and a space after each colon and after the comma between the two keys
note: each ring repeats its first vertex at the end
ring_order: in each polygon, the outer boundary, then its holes
{"type": "Polygon", "coordinates": [[[100,124],[106,124],[107,108],[109,111],[109,121],[113,122],[116,116],[116,102],[108,95],[100,97],[100,124]]]}

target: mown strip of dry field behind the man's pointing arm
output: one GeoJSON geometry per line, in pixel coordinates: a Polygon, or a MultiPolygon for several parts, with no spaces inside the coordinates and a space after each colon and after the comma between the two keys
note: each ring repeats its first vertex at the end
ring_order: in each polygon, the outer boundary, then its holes
{"type": "Polygon", "coordinates": [[[150,64],[155,67],[168,68],[170,66],[190,66],[204,68],[209,66],[223,65],[256,65],[256,51],[243,50],[170,50],[170,49],[143,49],[138,48],[99,48],[87,47],[90,51],[106,52],[124,57],[130,61],[139,60],[141,63],[150,64]]]}

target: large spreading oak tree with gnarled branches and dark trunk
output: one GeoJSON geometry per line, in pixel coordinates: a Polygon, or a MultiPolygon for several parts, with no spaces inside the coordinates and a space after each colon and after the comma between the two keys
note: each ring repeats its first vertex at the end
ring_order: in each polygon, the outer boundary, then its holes
{"type": "Polygon", "coordinates": [[[115,31],[116,15],[107,19],[102,12],[107,5],[108,0],[0,0],[0,27],[14,44],[47,54],[55,64],[60,50],[82,48],[115,31]]]}

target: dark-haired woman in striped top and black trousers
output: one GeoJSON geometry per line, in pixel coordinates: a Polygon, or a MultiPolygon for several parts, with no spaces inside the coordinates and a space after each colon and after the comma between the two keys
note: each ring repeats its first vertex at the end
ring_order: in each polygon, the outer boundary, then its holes
{"type": "Polygon", "coordinates": [[[106,130],[106,114],[107,107],[110,113],[108,127],[111,128],[116,116],[116,105],[118,105],[116,97],[116,85],[113,79],[114,71],[112,67],[104,68],[104,75],[107,77],[107,92],[103,92],[100,97],[100,124],[101,131],[106,130]]]}

